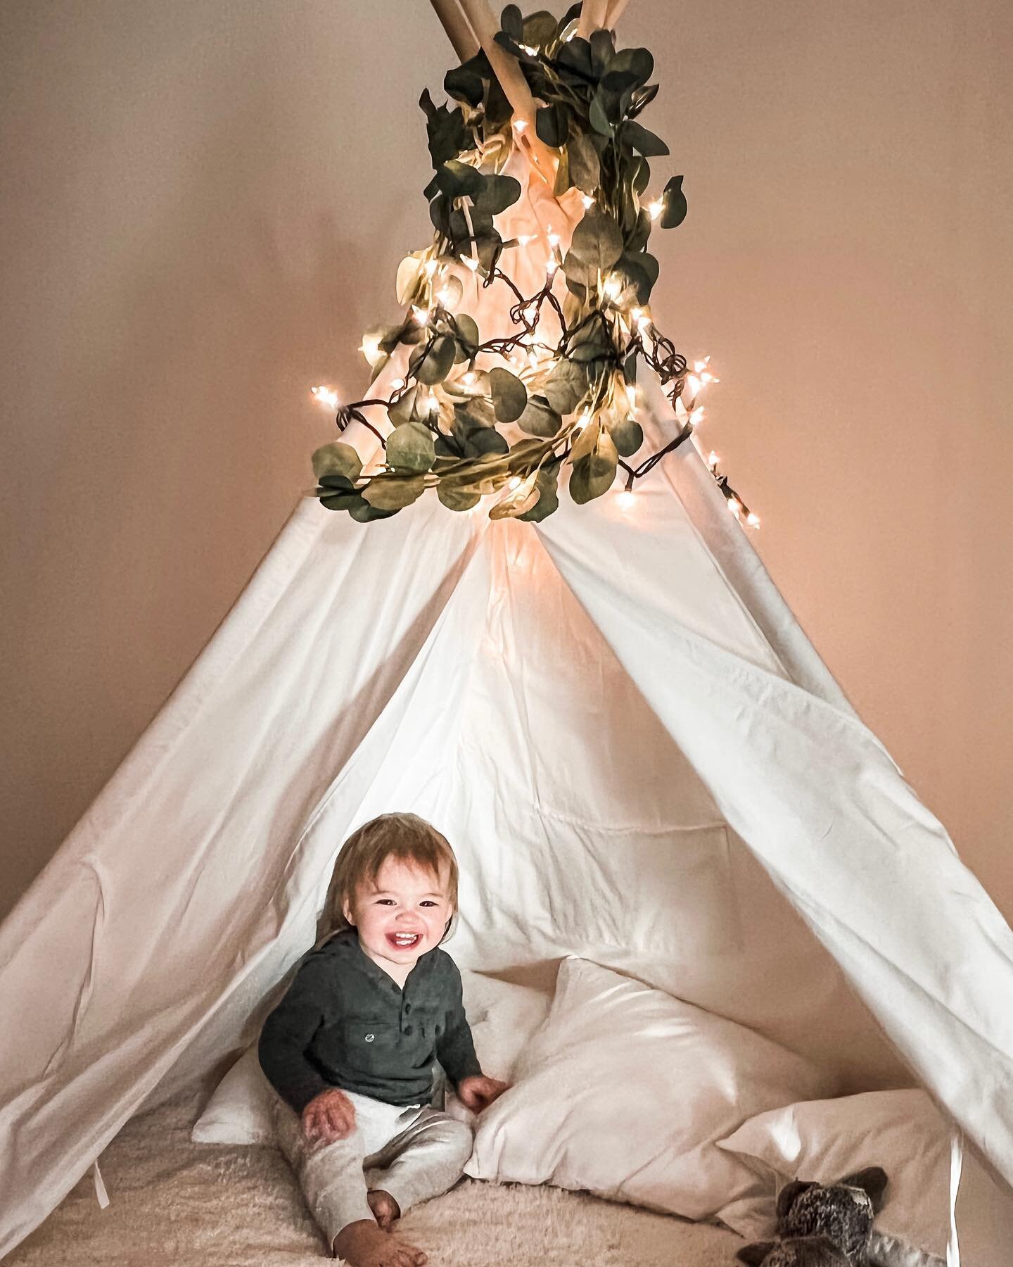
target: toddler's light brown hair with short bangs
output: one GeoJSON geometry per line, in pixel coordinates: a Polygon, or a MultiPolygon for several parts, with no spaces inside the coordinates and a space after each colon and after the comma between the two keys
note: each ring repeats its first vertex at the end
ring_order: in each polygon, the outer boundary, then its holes
{"type": "Polygon", "coordinates": [[[457,912],[457,859],[446,836],[417,813],[381,813],[363,822],[341,846],[317,924],[317,945],[351,927],[344,906],[363,881],[375,882],[380,868],[394,858],[415,863],[434,875],[447,869],[447,896],[457,912]]]}

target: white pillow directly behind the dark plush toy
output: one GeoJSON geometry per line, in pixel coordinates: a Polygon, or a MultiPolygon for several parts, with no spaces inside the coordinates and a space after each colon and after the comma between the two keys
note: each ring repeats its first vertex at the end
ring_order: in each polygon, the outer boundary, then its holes
{"type": "MultiPolygon", "coordinates": [[[[927,1092],[867,1091],[761,1114],[718,1147],[753,1166],[765,1196],[718,1216],[750,1240],[774,1234],[776,1190],[789,1180],[832,1183],[881,1166],[888,1186],[874,1225],[880,1267],[936,1267],[950,1235],[951,1128],[927,1092]]],[[[957,1199],[961,1256],[972,1267],[1008,1262],[1013,1204],[969,1153],[957,1199]]]]}

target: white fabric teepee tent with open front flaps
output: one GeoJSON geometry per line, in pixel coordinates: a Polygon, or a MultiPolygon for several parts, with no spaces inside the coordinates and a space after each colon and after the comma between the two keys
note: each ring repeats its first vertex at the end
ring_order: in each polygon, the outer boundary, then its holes
{"type": "MultiPolygon", "coordinates": [[[[660,393],[642,414],[664,443],[660,393]]],[[[390,808],[457,850],[463,967],[579,954],[845,1090],[914,1074],[1013,1185],[1013,934],[685,443],[632,504],[538,525],[300,503],[0,927],[0,1253],[255,1036],[341,843],[390,808]]]]}

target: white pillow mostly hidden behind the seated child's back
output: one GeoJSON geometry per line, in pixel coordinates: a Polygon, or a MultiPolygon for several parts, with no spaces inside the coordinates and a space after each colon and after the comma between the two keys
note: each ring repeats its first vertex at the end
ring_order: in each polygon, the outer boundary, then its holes
{"type": "MultiPolygon", "coordinates": [[[[509,1081],[518,1054],[548,1014],[550,996],[477,972],[462,972],[461,982],[482,1073],[509,1081]]],[[[196,1144],[274,1144],[272,1096],[255,1043],[219,1082],[190,1138],[196,1144]]],[[[448,1098],[456,1116],[472,1120],[456,1097],[448,1098]]]]}

